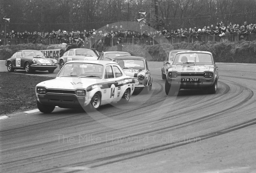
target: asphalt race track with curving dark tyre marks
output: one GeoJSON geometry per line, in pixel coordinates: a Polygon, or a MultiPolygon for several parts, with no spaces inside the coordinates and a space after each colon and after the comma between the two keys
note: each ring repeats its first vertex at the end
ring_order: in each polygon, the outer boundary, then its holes
{"type": "Polygon", "coordinates": [[[0,172],[255,172],[256,64],[217,63],[216,94],[172,97],[162,64],[148,63],[153,89],[126,105],[8,114],[0,120],[0,172]]]}

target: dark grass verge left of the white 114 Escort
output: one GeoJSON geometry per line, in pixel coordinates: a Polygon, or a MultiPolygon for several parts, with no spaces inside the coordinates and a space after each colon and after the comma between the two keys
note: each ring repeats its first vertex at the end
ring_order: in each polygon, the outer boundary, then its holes
{"type": "Polygon", "coordinates": [[[36,108],[36,84],[54,78],[0,72],[0,115],[36,108]]]}

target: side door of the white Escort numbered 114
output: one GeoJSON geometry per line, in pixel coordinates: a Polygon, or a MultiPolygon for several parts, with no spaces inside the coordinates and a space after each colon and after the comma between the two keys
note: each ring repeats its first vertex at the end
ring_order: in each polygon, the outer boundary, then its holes
{"type": "Polygon", "coordinates": [[[102,94],[102,103],[105,102],[112,102],[115,98],[115,76],[113,73],[113,69],[111,65],[106,66],[105,72],[104,72],[104,84],[103,84],[103,94],[102,94]]]}

